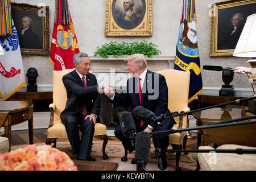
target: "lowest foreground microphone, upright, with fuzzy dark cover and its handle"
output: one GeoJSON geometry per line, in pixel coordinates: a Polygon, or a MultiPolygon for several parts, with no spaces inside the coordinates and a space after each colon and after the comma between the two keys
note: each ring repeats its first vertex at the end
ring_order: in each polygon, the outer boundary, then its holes
{"type": "Polygon", "coordinates": [[[149,159],[151,147],[150,134],[146,132],[139,132],[135,142],[135,160],[137,164],[137,171],[146,171],[146,165],[149,159]]]}

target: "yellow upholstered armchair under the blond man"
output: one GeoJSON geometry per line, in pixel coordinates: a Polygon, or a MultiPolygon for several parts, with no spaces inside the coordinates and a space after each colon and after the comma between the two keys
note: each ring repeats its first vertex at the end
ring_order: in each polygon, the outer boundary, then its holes
{"type": "MultiPolygon", "coordinates": [[[[190,111],[188,107],[190,72],[177,71],[175,69],[164,69],[158,73],[166,78],[168,86],[168,109],[171,112],[178,111],[179,113],[181,111],[190,111]]],[[[172,129],[187,127],[187,115],[181,115],[180,117],[175,117],[174,119],[177,124],[175,124],[172,129]]],[[[181,150],[182,148],[185,149],[187,138],[187,131],[170,134],[169,143],[172,145],[172,148],[176,150],[181,150]]],[[[176,153],[176,170],[180,170],[180,155],[180,152],[176,153]]]]}

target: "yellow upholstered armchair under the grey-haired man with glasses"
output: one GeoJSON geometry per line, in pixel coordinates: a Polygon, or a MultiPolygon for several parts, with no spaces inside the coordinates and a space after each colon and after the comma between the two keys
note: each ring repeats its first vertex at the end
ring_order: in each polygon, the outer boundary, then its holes
{"type": "MultiPolygon", "coordinates": [[[[51,117],[49,121],[49,127],[47,130],[46,144],[53,144],[56,147],[57,138],[68,138],[65,126],[60,121],[60,113],[65,109],[67,102],[67,92],[65,86],[62,82],[62,77],[67,73],[73,71],[73,69],[65,69],[63,71],[53,71],[53,103],[49,105],[49,110],[51,111],[51,117]]],[[[105,148],[108,143],[108,135],[106,135],[106,126],[101,123],[96,123],[94,136],[98,135],[104,140],[102,146],[102,158],[108,159],[106,155],[105,148]]],[[[81,133],[80,133],[81,134],[81,133]]]]}

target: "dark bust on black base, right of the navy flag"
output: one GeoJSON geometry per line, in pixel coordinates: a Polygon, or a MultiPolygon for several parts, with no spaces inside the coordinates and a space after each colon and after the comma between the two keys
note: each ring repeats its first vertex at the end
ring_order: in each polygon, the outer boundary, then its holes
{"type": "Polygon", "coordinates": [[[222,80],[225,85],[222,85],[219,96],[236,96],[236,91],[233,88],[233,85],[229,85],[234,78],[234,72],[231,70],[222,70],[222,80]]]}

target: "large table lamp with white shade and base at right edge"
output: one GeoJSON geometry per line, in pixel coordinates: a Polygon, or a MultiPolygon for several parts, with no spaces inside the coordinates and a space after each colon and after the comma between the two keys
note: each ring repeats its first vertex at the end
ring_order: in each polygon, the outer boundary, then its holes
{"type": "MultiPolygon", "coordinates": [[[[233,56],[252,57],[251,60],[246,61],[251,65],[251,75],[247,76],[249,82],[256,85],[256,14],[247,16],[245,26],[243,27],[233,56]]],[[[256,96],[256,94],[254,93],[253,96],[256,96]]],[[[248,107],[249,112],[255,114],[256,100],[250,100],[248,102],[248,107]]]]}

